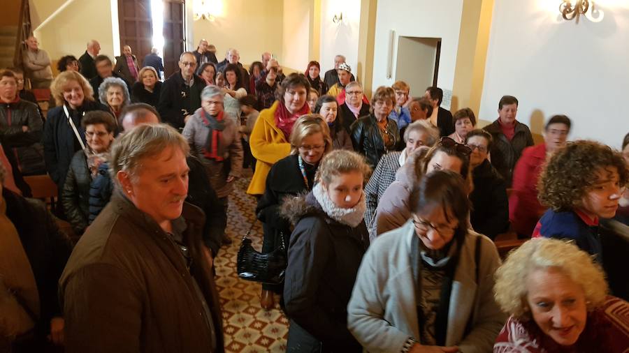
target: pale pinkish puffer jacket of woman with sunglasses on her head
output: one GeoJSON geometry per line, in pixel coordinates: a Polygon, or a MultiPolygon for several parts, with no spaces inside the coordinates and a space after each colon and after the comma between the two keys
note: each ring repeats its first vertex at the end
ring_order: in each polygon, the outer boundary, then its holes
{"type": "Polygon", "coordinates": [[[413,186],[421,179],[421,160],[428,153],[428,147],[419,147],[396,172],[396,181],[386,188],[376,209],[373,234],[380,235],[402,227],[412,217],[409,197],[413,186]]]}

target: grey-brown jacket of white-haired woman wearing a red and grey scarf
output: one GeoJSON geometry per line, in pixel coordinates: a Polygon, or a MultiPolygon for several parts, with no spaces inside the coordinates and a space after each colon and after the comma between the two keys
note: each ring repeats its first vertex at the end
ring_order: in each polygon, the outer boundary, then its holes
{"type": "Polygon", "coordinates": [[[205,142],[208,139],[210,128],[203,124],[203,108],[199,108],[194,115],[188,119],[182,135],[190,144],[191,154],[196,156],[205,165],[205,170],[210,178],[210,185],[216,190],[217,196],[226,197],[233,190],[233,181],[227,182],[227,177],[240,177],[243,170],[243,144],[240,143],[240,133],[236,119],[233,119],[226,112],[223,114],[225,128],[221,132],[218,155],[224,158],[223,161],[205,158],[205,142]]]}

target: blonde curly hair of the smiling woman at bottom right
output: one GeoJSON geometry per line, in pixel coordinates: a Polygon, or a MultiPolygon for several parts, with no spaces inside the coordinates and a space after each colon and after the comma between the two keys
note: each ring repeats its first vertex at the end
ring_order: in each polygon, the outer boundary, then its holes
{"type": "Polygon", "coordinates": [[[583,288],[588,311],[600,306],[609,292],[605,273],[572,241],[535,238],[513,250],[496,270],[494,298],[505,313],[530,320],[526,279],[537,269],[558,269],[583,288]]]}

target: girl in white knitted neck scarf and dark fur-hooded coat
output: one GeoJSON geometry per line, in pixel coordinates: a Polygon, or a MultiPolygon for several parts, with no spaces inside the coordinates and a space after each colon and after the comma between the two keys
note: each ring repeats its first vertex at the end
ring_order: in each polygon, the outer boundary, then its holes
{"type": "Polygon", "coordinates": [[[287,352],[362,352],[347,329],[347,302],[369,246],[363,186],[370,172],[358,153],[332,151],[312,191],[282,204],[295,225],[284,285],[287,352]]]}

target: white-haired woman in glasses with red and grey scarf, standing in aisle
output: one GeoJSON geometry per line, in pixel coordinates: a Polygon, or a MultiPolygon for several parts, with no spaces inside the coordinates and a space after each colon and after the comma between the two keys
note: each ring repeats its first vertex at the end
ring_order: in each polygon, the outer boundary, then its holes
{"type": "Polygon", "coordinates": [[[210,185],[223,206],[221,234],[224,243],[231,243],[225,235],[227,203],[233,182],[243,169],[243,144],[236,125],[236,117],[223,110],[223,90],[206,86],[201,91],[201,107],[188,119],[182,135],[188,140],[192,155],[196,156],[208,172],[210,185]]]}

